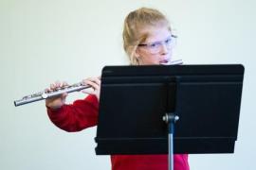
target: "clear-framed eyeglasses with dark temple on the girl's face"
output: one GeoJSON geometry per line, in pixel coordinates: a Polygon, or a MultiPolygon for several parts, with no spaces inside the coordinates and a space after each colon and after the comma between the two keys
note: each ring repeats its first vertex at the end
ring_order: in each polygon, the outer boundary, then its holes
{"type": "Polygon", "coordinates": [[[167,49],[171,49],[175,44],[176,38],[177,36],[171,35],[164,41],[139,43],[137,46],[146,48],[151,54],[156,54],[160,52],[162,45],[165,45],[167,49]]]}

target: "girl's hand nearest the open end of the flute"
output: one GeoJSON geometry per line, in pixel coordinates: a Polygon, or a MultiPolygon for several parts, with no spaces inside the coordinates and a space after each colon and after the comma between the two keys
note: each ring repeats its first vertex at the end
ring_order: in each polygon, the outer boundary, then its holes
{"type": "MultiPolygon", "coordinates": [[[[66,82],[60,82],[56,81],[55,83],[50,84],[50,87],[46,89],[47,91],[55,91],[58,88],[62,88],[64,86],[67,86],[68,84],[66,82]]],[[[56,110],[61,108],[65,104],[65,98],[67,96],[67,93],[62,93],[58,96],[50,97],[46,99],[46,107],[56,110]]]]}

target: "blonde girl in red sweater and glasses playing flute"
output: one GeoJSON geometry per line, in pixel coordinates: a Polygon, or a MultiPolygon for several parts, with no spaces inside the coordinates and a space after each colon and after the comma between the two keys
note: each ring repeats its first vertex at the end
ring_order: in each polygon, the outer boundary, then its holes
{"type": "MultiPolygon", "coordinates": [[[[174,39],[166,17],[153,8],[138,8],[130,12],[124,21],[123,48],[132,65],[165,64],[172,59],[174,39]]],[[[80,131],[97,125],[101,80],[98,77],[82,81],[94,91],[82,91],[89,95],[71,105],[64,104],[66,93],[46,99],[50,120],[66,131],[80,131]]],[[[56,82],[50,89],[64,86],[56,82]]],[[[166,170],[167,155],[112,155],[112,170],[166,170]]],[[[189,170],[188,155],[174,155],[174,170],[189,170]]]]}

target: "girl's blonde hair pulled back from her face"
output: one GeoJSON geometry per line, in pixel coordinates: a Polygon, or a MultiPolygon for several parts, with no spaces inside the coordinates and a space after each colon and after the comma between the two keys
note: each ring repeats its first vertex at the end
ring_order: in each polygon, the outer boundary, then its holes
{"type": "Polygon", "coordinates": [[[135,56],[137,45],[145,41],[149,36],[149,33],[141,32],[142,29],[147,26],[159,25],[167,26],[171,31],[167,18],[154,8],[138,8],[126,16],[122,32],[123,48],[132,65],[139,64],[135,56]]]}

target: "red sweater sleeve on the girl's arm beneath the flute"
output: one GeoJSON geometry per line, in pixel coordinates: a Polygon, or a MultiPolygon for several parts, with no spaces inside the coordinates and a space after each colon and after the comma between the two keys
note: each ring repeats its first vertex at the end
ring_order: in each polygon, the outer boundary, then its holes
{"type": "Polygon", "coordinates": [[[95,95],[88,95],[73,104],[64,105],[58,110],[47,108],[51,122],[65,131],[80,131],[86,127],[96,126],[98,123],[99,102],[95,95]]]}

